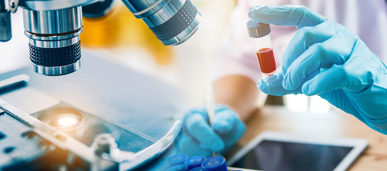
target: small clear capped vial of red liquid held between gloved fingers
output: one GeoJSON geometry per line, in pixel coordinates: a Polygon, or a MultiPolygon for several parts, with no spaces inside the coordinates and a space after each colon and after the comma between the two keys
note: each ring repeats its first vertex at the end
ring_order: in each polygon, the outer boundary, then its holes
{"type": "Polygon", "coordinates": [[[270,25],[250,20],[247,22],[248,35],[253,38],[258,63],[265,82],[278,79],[276,59],[270,39],[270,25]]]}

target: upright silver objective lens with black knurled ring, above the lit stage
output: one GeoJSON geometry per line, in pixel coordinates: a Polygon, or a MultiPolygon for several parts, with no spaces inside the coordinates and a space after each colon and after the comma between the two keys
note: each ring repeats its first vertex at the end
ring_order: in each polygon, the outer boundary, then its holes
{"type": "Polygon", "coordinates": [[[60,10],[23,9],[32,69],[43,75],[65,75],[80,67],[80,6],[60,10]]]}

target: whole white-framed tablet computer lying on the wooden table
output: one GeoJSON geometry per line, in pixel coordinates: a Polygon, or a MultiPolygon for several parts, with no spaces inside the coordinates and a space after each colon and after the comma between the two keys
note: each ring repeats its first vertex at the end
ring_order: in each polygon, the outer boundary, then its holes
{"type": "Polygon", "coordinates": [[[231,168],[263,171],[344,171],[368,146],[366,139],[266,131],[228,159],[231,168]]]}

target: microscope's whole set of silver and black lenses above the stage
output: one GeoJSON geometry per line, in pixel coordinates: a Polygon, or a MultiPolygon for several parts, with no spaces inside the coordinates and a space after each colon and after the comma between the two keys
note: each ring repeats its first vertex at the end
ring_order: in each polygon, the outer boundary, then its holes
{"type": "MultiPolygon", "coordinates": [[[[101,17],[113,0],[0,0],[0,41],[11,39],[10,13],[23,10],[24,34],[29,38],[32,70],[57,76],[80,68],[82,15],[101,17]]],[[[189,39],[200,23],[200,13],[190,0],[122,0],[164,45],[189,39]]]]}

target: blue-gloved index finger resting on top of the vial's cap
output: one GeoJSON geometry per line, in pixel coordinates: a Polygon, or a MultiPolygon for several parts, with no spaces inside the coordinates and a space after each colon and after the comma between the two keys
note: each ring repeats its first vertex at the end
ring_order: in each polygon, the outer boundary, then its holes
{"type": "Polygon", "coordinates": [[[298,29],[313,27],[327,20],[313,10],[301,5],[259,5],[248,10],[250,19],[275,25],[294,25],[298,29]]]}

